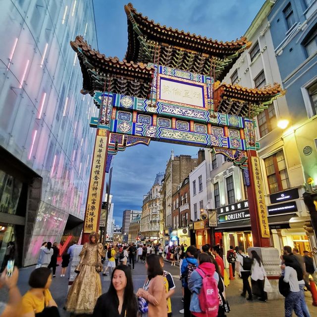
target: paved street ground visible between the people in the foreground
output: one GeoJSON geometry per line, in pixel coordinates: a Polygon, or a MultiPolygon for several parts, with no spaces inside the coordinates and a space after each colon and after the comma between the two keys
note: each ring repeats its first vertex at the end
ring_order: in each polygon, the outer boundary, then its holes
{"type": "MultiPolygon", "coordinates": [[[[22,268],[20,270],[19,277],[19,289],[22,294],[24,294],[28,290],[28,276],[34,267],[22,268]]],[[[183,315],[179,314],[179,310],[183,308],[181,302],[181,282],[179,280],[179,267],[171,266],[169,263],[165,263],[165,270],[168,270],[174,278],[174,282],[176,284],[176,292],[172,297],[172,309],[174,317],[181,317],[183,315]]],[[[51,292],[54,300],[56,301],[61,317],[69,317],[69,314],[66,313],[62,308],[65,303],[65,299],[67,296],[67,288],[68,288],[68,279],[65,277],[60,277],[60,266],[56,269],[56,278],[53,279],[51,292]]],[[[143,286],[144,280],[146,278],[145,266],[142,263],[137,263],[135,265],[135,269],[132,270],[134,289],[135,291],[143,286]]],[[[110,277],[102,276],[102,284],[103,284],[103,292],[106,292],[109,287],[110,277]]],[[[226,289],[227,300],[229,301],[231,312],[229,316],[232,317],[244,317],[246,315],[250,315],[253,312],[257,312],[257,317],[282,317],[284,316],[284,301],[269,301],[266,303],[253,301],[248,302],[243,297],[240,296],[242,287],[242,280],[235,279],[231,281],[230,286],[226,289]]],[[[317,307],[312,306],[312,300],[310,297],[310,293],[306,292],[306,300],[311,312],[311,316],[317,316],[317,307]]],[[[6,294],[4,290],[0,290],[0,300],[5,300],[6,294]]],[[[294,315],[295,316],[295,315],[294,315]]]]}

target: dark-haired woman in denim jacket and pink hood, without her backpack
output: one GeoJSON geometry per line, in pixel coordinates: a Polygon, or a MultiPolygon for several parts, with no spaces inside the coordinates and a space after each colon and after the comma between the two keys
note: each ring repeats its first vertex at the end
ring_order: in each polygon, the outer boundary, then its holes
{"type": "Polygon", "coordinates": [[[213,276],[216,282],[219,282],[219,274],[215,270],[215,264],[211,263],[211,261],[211,256],[209,254],[205,252],[200,253],[198,255],[199,266],[196,270],[193,271],[188,281],[188,288],[192,292],[192,297],[190,300],[190,311],[193,316],[207,316],[207,312],[202,312],[198,298],[200,290],[203,286],[203,277],[201,276],[200,272],[202,272],[202,274],[205,273],[206,275],[213,276]]]}

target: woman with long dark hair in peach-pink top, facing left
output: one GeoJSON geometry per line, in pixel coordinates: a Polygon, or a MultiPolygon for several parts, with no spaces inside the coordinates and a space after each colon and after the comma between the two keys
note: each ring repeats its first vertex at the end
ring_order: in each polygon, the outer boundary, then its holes
{"type": "Polygon", "coordinates": [[[148,301],[148,317],[167,317],[164,272],[159,262],[159,256],[149,254],[145,267],[148,270],[148,279],[143,288],[138,289],[137,296],[148,301]]]}

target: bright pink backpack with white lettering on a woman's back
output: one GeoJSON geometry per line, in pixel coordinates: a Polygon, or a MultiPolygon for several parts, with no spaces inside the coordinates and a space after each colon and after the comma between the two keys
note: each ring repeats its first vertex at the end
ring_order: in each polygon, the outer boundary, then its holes
{"type": "Polygon", "coordinates": [[[218,283],[214,279],[214,265],[211,268],[211,275],[206,274],[201,268],[196,269],[197,273],[203,278],[202,288],[199,292],[199,306],[203,313],[208,317],[218,316],[219,298],[218,283]]]}

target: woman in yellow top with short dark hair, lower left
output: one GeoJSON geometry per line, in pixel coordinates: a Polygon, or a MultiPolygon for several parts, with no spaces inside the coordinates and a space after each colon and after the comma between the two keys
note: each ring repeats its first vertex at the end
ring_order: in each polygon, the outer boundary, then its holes
{"type": "Polygon", "coordinates": [[[30,275],[31,289],[22,297],[21,317],[59,316],[57,305],[49,290],[52,283],[52,272],[47,267],[36,268],[30,275]],[[41,316],[40,314],[37,316],[41,316]]]}

